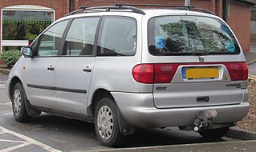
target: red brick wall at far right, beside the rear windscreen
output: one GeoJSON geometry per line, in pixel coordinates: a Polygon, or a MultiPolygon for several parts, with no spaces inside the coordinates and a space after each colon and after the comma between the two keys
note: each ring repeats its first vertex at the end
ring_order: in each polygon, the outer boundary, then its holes
{"type": "Polygon", "coordinates": [[[250,5],[230,1],[228,24],[238,37],[242,50],[250,52],[250,5]]]}

